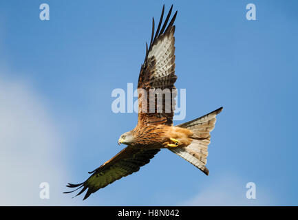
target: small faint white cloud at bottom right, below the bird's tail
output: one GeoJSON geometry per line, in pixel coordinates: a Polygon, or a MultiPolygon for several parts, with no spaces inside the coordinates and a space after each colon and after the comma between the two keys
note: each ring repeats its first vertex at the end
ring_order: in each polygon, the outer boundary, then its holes
{"type": "Polygon", "coordinates": [[[213,178],[211,184],[198,189],[198,194],[182,206],[274,206],[276,199],[270,192],[256,184],[256,199],[246,198],[246,181],[234,175],[213,178]]]}

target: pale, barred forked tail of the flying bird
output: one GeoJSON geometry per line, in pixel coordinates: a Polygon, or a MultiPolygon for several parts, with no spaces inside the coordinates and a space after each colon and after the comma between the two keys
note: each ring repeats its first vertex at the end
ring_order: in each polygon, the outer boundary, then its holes
{"type": "Polygon", "coordinates": [[[170,151],[186,159],[206,175],[209,175],[209,170],[205,165],[211,138],[210,132],[214,129],[216,115],[221,111],[222,107],[195,120],[176,125],[191,130],[193,132],[193,141],[189,146],[169,148],[170,151]]]}

